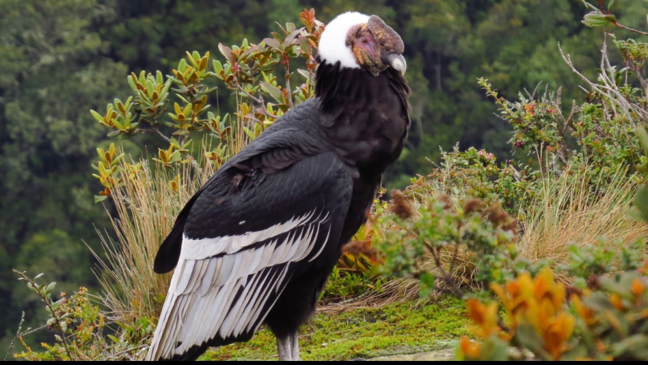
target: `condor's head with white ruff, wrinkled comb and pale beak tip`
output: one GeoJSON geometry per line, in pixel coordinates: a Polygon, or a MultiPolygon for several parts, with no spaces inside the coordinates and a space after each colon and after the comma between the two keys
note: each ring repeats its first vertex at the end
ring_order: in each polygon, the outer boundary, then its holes
{"type": "Polygon", "coordinates": [[[391,67],[405,73],[403,41],[378,16],[346,12],[330,21],[319,38],[319,58],[343,68],[366,68],[377,76],[391,67]]]}

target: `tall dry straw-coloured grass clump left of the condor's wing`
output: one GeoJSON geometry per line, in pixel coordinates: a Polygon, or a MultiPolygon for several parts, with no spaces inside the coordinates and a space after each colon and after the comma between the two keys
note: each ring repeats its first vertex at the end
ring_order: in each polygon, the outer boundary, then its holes
{"type": "MultiPolygon", "coordinates": [[[[221,163],[248,144],[249,136],[242,126],[249,128],[254,123],[237,118],[229,138],[223,141],[227,153],[221,163]]],[[[203,152],[211,151],[210,143],[209,138],[203,139],[203,152]]],[[[93,253],[99,262],[93,271],[102,286],[100,297],[112,319],[130,323],[139,318],[157,318],[161,311],[171,273],[154,273],[157,249],[185,203],[220,164],[198,158],[179,167],[165,168],[141,158],[142,169],[129,175],[126,163],[122,161],[119,166],[124,172],[122,186],[112,191],[113,214],[106,208],[117,238],[98,232],[105,255],[93,253]]]]}

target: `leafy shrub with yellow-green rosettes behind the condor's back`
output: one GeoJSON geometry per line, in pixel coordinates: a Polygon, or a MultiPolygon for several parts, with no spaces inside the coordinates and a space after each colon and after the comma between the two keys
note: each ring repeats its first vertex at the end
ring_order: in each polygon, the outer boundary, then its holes
{"type": "MultiPolygon", "coordinates": [[[[103,114],[95,110],[91,114],[111,129],[108,136],[153,133],[162,138],[168,148],[159,149],[153,159],[163,168],[177,170],[181,164],[192,164],[200,172],[196,158],[191,155],[191,145],[194,138],[202,136],[203,156],[218,168],[288,108],[313,95],[315,50],[323,26],[312,9],[304,10],[300,19],[304,27],[298,29],[287,23],[280,27],[281,32],[273,32],[272,38],[260,44],[249,44],[248,40],[232,47],[220,44],[224,63],[212,60],[210,64],[209,52],[200,55],[194,51],[187,52],[187,57],[178,62],[173,75],[164,77],[160,71],[155,75],[145,71],[139,75],[131,73],[127,80],[133,95],[126,101],[115,99],[103,114]],[[280,72],[278,68],[283,73],[283,82],[275,75],[280,72]],[[295,74],[302,82],[292,86],[295,74]],[[217,90],[214,82],[224,83],[237,97],[234,116],[216,115],[207,104],[217,90]],[[273,101],[266,103],[266,97],[273,101]]],[[[116,155],[113,147],[97,152],[100,159],[93,168],[105,189],[95,200],[103,201],[121,186],[124,176],[141,166],[119,168],[121,154],[116,155]]]]}

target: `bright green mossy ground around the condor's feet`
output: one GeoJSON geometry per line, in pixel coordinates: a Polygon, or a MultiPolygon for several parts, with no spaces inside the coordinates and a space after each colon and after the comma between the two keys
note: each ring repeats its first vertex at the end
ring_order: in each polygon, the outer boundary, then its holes
{"type": "MultiPolygon", "coordinates": [[[[353,360],[453,347],[467,334],[463,301],[441,297],[317,314],[299,336],[302,360],[353,360]]],[[[200,360],[277,360],[268,329],[246,343],[210,349],[200,360]]]]}

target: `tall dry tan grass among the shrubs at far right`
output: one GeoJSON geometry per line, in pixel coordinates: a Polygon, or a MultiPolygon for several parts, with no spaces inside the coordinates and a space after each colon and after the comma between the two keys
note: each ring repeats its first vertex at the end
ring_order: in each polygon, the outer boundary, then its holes
{"type": "Polygon", "coordinates": [[[519,216],[520,255],[566,264],[572,244],[614,249],[614,244],[628,244],[645,235],[645,224],[627,214],[637,188],[633,179],[618,170],[607,182],[592,184],[588,169],[592,168],[567,168],[557,177],[540,180],[535,201],[519,216]]]}

